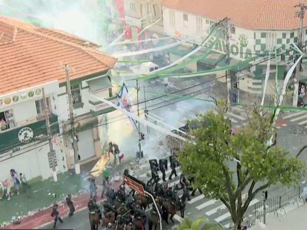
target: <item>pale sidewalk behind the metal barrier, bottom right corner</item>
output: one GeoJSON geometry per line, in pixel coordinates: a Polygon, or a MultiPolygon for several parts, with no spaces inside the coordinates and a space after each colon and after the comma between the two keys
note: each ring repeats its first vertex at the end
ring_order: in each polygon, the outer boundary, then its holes
{"type": "MultiPolygon", "coordinates": [[[[299,203],[300,204],[300,203],[299,203]]],[[[285,207],[284,210],[280,210],[279,217],[276,214],[269,213],[266,215],[266,224],[257,223],[252,226],[250,230],[306,230],[306,213],[307,213],[307,204],[298,205],[295,203],[294,205],[289,205],[285,207]],[[289,210],[288,209],[294,209],[289,210]]],[[[261,221],[263,218],[261,218],[261,221]]]]}

